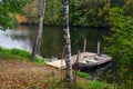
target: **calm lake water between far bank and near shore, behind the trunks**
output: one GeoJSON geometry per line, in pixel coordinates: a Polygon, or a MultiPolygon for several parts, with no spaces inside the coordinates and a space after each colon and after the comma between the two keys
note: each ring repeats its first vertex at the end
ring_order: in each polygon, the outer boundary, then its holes
{"type": "MultiPolygon", "coordinates": [[[[28,51],[32,50],[34,42],[37,26],[18,26],[14,29],[6,31],[0,30],[0,47],[18,48],[28,51]]],[[[44,27],[41,40],[40,53],[44,58],[57,58],[62,53],[63,49],[63,29],[61,27],[44,27]]],[[[83,50],[83,40],[86,38],[86,50],[96,52],[98,40],[102,41],[102,34],[105,33],[102,29],[92,28],[70,28],[72,55],[79,50],[83,50]]],[[[103,46],[103,42],[101,42],[103,46]]],[[[103,47],[101,49],[103,50],[103,47]]]]}

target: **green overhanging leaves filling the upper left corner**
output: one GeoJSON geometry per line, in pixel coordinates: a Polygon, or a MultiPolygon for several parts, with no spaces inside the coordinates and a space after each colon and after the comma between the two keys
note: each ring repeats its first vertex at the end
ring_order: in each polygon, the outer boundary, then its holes
{"type": "Polygon", "coordinates": [[[0,1],[0,29],[11,27],[14,13],[21,13],[22,7],[28,0],[1,0],[0,1]]]}

